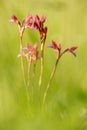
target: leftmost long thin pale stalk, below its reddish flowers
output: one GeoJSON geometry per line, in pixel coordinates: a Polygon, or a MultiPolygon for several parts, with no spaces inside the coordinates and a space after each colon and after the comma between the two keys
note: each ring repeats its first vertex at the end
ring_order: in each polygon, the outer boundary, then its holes
{"type": "Polygon", "coordinates": [[[22,70],[23,80],[24,80],[24,84],[25,84],[25,89],[26,89],[26,94],[27,94],[27,100],[29,101],[28,89],[27,89],[27,84],[26,84],[26,79],[25,79],[25,73],[24,73],[23,56],[22,56],[22,36],[20,36],[20,53],[21,53],[21,70],[22,70]]]}

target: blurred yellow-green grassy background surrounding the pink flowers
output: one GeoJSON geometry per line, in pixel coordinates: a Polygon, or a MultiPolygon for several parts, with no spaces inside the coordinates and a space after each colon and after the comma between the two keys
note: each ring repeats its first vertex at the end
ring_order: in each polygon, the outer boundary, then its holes
{"type": "MultiPolygon", "coordinates": [[[[38,33],[27,30],[23,44],[36,41],[38,33]]],[[[46,46],[41,100],[56,59],[46,46]]],[[[36,92],[39,68],[40,62],[33,82],[36,92]]],[[[0,130],[87,130],[87,0],[0,0],[0,130]],[[78,46],[76,58],[67,53],[60,60],[44,108],[37,93],[27,103],[17,58],[18,28],[8,22],[13,14],[20,20],[27,14],[46,15],[46,46],[51,40],[63,49],[78,46]]]]}

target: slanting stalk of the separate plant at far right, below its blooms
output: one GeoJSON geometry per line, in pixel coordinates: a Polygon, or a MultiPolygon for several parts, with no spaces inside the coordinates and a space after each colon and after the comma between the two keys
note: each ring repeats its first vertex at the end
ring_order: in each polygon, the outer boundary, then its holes
{"type": "Polygon", "coordinates": [[[46,87],[46,90],[45,90],[45,93],[44,93],[44,97],[43,97],[43,104],[45,103],[46,96],[47,96],[48,90],[50,88],[50,84],[51,84],[51,82],[53,80],[53,77],[54,77],[54,74],[55,74],[59,59],[60,59],[60,57],[57,57],[56,63],[54,65],[54,68],[53,68],[52,73],[50,75],[50,78],[49,78],[49,81],[48,81],[48,84],[47,84],[47,87],[46,87]]]}

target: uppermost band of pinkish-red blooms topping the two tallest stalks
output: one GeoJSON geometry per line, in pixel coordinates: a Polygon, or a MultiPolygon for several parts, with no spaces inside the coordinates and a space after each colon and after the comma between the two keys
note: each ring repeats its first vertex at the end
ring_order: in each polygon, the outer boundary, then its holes
{"type": "Polygon", "coordinates": [[[21,34],[25,30],[25,28],[31,28],[33,30],[38,30],[40,34],[41,43],[45,43],[47,36],[47,27],[44,27],[44,23],[46,21],[46,17],[43,15],[41,18],[36,15],[33,17],[32,15],[28,15],[22,22],[18,20],[18,18],[13,15],[9,22],[17,23],[19,26],[19,31],[21,30],[21,34]]]}

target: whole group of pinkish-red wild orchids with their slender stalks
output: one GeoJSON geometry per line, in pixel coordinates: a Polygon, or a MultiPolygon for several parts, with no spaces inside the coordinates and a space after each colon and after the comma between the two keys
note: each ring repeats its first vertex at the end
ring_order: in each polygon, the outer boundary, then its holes
{"type": "MultiPolygon", "coordinates": [[[[20,36],[20,54],[18,57],[21,58],[21,68],[22,68],[22,73],[23,73],[23,78],[26,86],[26,92],[27,92],[27,98],[29,100],[29,94],[28,94],[28,88],[30,84],[30,68],[31,68],[31,63],[34,62],[34,70],[36,66],[36,62],[39,59],[41,61],[41,69],[40,69],[40,77],[39,77],[39,91],[41,89],[41,83],[42,83],[42,77],[43,77],[43,70],[44,70],[44,45],[45,41],[47,38],[47,26],[44,26],[44,23],[46,21],[46,17],[43,15],[41,18],[38,15],[35,15],[33,17],[32,15],[28,15],[22,22],[18,20],[18,18],[13,15],[9,22],[16,23],[18,25],[19,29],[19,36],[20,36]],[[31,30],[37,30],[40,35],[40,54],[38,52],[38,44],[35,43],[34,46],[30,45],[29,43],[26,44],[25,47],[23,47],[22,39],[23,39],[23,34],[25,29],[31,29],[31,30]],[[28,80],[26,82],[25,80],[25,73],[24,73],[24,63],[23,63],[23,57],[27,59],[27,64],[28,64],[28,80]]],[[[43,96],[43,104],[45,103],[46,96],[49,90],[49,87],[51,86],[51,81],[54,77],[54,74],[56,72],[57,65],[59,63],[60,58],[66,53],[70,52],[74,56],[76,56],[75,50],[77,49],[77,46],[72,46],[70,48],[66,48],[64,51],[61,50],[61,44],[56,43],[55,41],[52,40],[51,44],[48,45],[49,48],[53,48],[54,51],[57,53],[57,58],[55,65],[53,67],[52,73],[50,75],[46,90],[44,92],[43,96]]]]}

